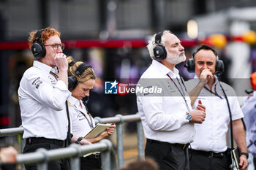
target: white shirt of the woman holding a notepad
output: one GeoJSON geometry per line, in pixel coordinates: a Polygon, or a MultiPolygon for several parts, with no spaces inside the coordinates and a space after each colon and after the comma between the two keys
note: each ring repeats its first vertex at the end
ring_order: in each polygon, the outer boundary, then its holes
{"type": "Polygon", "coordinates": [[[95,126],[93,117],[87,114],[86,107],[81,100],[79,101],[77,98],[70,96],[68,101],[72,133],[76,136],[86,136],[86,134],[91,131],[90,124],[93,125],[93,127],[95,126]]]}

